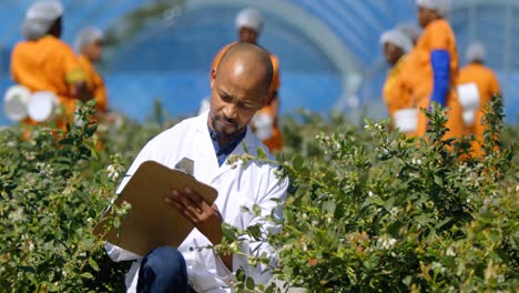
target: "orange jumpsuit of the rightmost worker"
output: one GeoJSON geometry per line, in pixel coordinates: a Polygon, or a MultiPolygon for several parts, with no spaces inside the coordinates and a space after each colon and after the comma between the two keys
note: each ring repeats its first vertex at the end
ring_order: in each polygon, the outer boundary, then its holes
{"type": "Polygon", "coordinates": [[[474,125],[467,128],[468,134],[472,133],[476,141],[472,142],[472,152],[475,155],[482,155],[481,142],[486,125],[481,124],[481,119],[485,111],[492,100],[495,94],[500,93],[499,82],[496,74],[487,67],[480,63],[470,63],[462,68],[459,72],[458,84],[476,83],[479,90],[479,110],[476,114],[474,125]]]}

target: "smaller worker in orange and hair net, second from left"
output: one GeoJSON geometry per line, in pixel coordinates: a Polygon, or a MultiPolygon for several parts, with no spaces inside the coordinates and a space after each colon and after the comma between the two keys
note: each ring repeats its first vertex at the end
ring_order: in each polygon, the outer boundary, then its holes
{"type": "Polygon", "coordinates": [[[78,33],[75,40],[79,62],[86,74],[86,88],[92,98],[96,100],[95,109],[101,115],[108,112],[106,88],[103,78],[95,70],[93,63],[101,60],[103,39],[104,36],[100,29],[86,27],[78,33]]]}

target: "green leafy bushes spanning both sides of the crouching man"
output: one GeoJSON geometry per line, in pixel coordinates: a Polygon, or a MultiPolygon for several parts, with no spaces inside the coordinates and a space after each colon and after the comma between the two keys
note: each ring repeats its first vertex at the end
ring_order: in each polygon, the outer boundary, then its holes
{"type": "MultiPolygon", "coordinates": [[[[517,135],[503,129],[499,103],[481,159],[464,155],[469,141],[440,140],[440,111],[427,140],[388,132],[384,121],[285,118],[278,160],[291,194],[282,232],[266,239],[277,249],[276,277],[308,292],[517,290],[517,135]]],[[[65,134],[41,127],[24,140],[22,128],[0,130],[6,291],[124,291],[129,263],[111,262],[92,229],[140,149],[175,121],[157,107],[144,124],[120,119],[98,129],[86,122],[91,112],[82,108],[83,123],[65,134]]],[[[258,228],[240,233],[262,239],[258,228]]],[[[265,290],[238,280],[240,291],[265,290]]]]}

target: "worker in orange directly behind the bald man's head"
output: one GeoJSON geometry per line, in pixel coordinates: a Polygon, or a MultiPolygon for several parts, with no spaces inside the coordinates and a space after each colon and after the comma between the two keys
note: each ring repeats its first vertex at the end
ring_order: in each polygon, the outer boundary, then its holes
{"type": "MultiPolygon", "coordinates": [[[[255,9],[244,9],[236,16],[236,28],[238,29],[238,41],[257,44],[257,39],[264,26],[263,17],[255,9]]],[[[233,42],[234,43],[234,42],[233,42]]],[[[216,69],[221,58],[225,53],[230,43],[225,46],[213,60],[213,69],[216,69]]],[[[283,135],[278,127],[279,113],[279,61],[276,55],[269,53],[273,65],[273,80],[268,90],[265,105],[256,113],[251,123],[251,128],[262,139],[263,143],[271,152],[283,149],[283,135]]]]}

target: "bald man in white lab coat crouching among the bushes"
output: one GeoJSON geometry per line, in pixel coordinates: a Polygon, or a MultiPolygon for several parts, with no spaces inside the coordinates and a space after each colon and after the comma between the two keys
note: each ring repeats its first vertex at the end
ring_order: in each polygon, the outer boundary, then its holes
{"type": "MultiPolygon", "coordinates": [[[[164,203],[171,205],[172,212],[182,214],[194,226],[179,247],[163,246],[147,255],[136,255],[106,245],[114,261],[138,260],[126,276],[128,292],[234,292],[232,281],[238,269],[256,284],[269,281],[268,265],[250,266],[243,256],[266,253],[274,265],[267,243],[243,242],[240,254],[217,254],[207,247],[222,242],[223,222],[238,229],[261,225],[265,233],[278,229],[262,220],[269,214],[281,216],[276,200],[284,201],[288,181],[276,178],[278,166],[256,160],[238,161],[238,168],[226,163],[230,155],[245,153],[243,144],[253,155],[263,148],[247,124],[262,108],[271,82],[268,53],[255,44],[233,44],[211,72],[211,110],[159,134],[138,155],[119,192],[141,163],[152,160],[174,168],[186,158],[194,162],[194,178],[215,188],[218,195],[210,204],[193,190],[164,194],[164,203]],[[252,211],[256,204],[262,216],[244,212],[243,208],[252,211]]],[[[264,152],[272,159],[267,150],[264,152]]]]}

